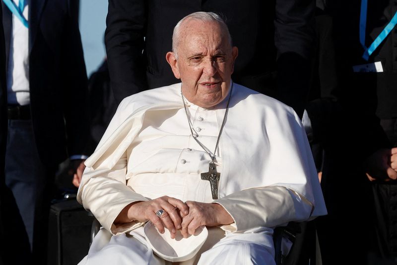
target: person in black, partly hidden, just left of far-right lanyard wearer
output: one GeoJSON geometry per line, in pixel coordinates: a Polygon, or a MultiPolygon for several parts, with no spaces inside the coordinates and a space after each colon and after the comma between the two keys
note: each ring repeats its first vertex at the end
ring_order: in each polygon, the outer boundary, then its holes
{"type": "Polygon", "coordinates": [[[320,8],[316,10],[316,32],[316,60],[306,110],[311,121],[308,137],[328,215],[311,222],[317,233],[307,244],[317,241],[316,265],[366,264],[369,234],[362,229],[368,225],[363,222],[368,219],[368,181],[361,173],[361,154],[355,155],[353,148],[356,127],[344,106],[346,88],[336,60],[333,20],[320,8]]]}

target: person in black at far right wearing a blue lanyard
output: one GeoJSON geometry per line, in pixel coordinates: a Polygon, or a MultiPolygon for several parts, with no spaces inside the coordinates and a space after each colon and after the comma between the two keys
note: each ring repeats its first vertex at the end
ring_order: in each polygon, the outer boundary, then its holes
{"type": "Polygon", "coordinates": [[[353,227],[374,231],[369,264],[396,264],[397,174],[391,148],[397,144],[397,5],[394,0],[328,0],[326,10],[333,18],[341,97],[354,126],[350,146],[365,163],[360,179],[367,173],[371,180],[366,225],[353,227]]]}

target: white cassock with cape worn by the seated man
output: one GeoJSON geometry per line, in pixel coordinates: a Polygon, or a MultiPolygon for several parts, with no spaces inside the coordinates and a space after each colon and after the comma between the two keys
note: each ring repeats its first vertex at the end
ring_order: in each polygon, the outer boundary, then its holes
{"type": "MultiPolygon", "coordinates": [[[[327,213],[306,134],[292,108],[237,84],[231,93],[216,157],[216,200],[209,181],[200,177],[208,172],[209,156],[191,136],[181,84],[120,103],[85,162],[77,194],[104,228],[81,264],[165,263],[147,244],[144,223],[113,223],[134,201],[168,195],[215,202],[233,217],[231,225],[208,228],[199,254],[181,264],[273,264],[275,226],[327,213]]],[[[207,109],[186,101],[198,139],[211,152],[227,99],[207,109]]]]}

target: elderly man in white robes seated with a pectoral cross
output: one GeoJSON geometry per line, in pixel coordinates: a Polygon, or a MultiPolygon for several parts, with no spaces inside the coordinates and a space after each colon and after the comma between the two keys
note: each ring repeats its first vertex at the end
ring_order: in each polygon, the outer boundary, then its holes
{"type": "Polygon", "coordinates": [[[299,117],[233,84],[237,55],[214,13],[176,25],[166,59],[182,83],[125,98],[86,161],[78,200],[104,229],[81,264],[274,264],[272,228],[326,214],[299,117]],[[153,226],[208,237],[170,259],[153,226]]]}

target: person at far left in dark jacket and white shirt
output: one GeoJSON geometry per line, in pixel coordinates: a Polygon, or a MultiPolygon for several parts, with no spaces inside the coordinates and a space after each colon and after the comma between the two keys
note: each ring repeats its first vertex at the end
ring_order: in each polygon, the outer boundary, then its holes
{"type": "Polygon", "coordinates": [[[8,138],[2,201],[4,260],[45,264],[58,164],[81,174],[89,134],[76,0],[3,0],[8,138]],[[17,246],[17,247],[16,247],[17,246]]]}

